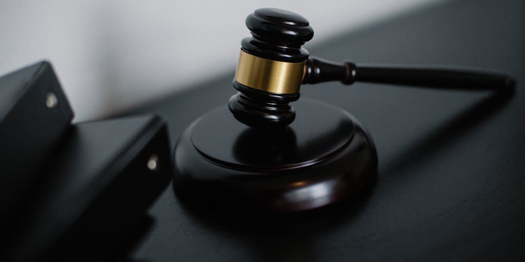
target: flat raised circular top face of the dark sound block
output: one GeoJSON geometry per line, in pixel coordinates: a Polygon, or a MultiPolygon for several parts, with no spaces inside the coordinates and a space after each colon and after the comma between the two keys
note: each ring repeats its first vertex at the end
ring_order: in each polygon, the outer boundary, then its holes
{"type": "Polygon", "coordinates": [[[196,121],[191,140],[212,161],[270,171],[322,161],[352,139],[354,125],[339,108],[308,99],[296,108],[300,114],[287,128],[260,130],[239,123],[221,106],[196,121]]]}

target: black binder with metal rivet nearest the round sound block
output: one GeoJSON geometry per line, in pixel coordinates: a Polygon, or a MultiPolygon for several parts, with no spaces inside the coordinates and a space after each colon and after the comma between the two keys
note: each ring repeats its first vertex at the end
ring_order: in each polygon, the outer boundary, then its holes
{"type": "Polygon", "coordinates": [[[39,175],[9,261],[112,260],[171,179],[163,118],[73,125],[39,175]]]}

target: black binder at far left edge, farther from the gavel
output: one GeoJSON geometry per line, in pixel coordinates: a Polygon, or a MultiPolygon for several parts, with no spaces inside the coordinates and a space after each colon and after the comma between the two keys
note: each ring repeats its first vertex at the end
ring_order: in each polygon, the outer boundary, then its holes
{"type": "Polygon", "coordinates": [[[73,112],[51,64],[0,78],[0,222],[3,234],[38,183],[35,171],[69,127],[73,112]]]}

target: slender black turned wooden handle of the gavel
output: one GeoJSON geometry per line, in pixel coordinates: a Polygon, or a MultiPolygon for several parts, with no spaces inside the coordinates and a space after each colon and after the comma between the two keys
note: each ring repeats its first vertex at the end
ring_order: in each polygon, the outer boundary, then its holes
{"type": "Polygon", "coordinates": [[[453,90],[500,90],[516,84],[510,75],[461,69],[404,68],[374,65],[337,64],[319,58],[309,58],[302,83],[314,84],[341,81],[344,84],[374,82],[417,85],[453,90]]]}

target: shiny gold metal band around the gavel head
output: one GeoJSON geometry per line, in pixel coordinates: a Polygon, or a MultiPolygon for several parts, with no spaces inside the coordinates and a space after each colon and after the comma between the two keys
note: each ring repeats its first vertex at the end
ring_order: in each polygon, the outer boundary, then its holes
{"type": "Polygon", "coordinates": [[[299,93],[305,63],[268,60],[240,50],[235,81],[271,93],[299,93]]]}

